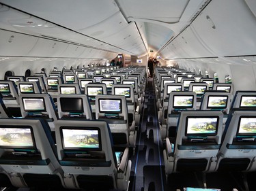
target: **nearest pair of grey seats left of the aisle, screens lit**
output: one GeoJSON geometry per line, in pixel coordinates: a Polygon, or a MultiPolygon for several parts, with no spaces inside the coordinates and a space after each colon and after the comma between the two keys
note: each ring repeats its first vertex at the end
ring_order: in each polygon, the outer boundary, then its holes
{"type": "Polygon", "coordinates": [[[44,120],[0,118],[0,187],[127,190],[128,148],[114,150],[106,122],[58,120],[55,136],[44,120]]]}

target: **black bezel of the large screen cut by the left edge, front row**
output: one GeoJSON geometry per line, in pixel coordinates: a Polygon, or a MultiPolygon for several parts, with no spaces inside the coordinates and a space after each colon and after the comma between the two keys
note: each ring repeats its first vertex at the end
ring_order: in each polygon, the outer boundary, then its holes
{"type": "Polygon", "coordinates": [[[35,144],[35,137],[34,137],[34,133],[33,133],[33,128],[32,126],[28,126],[28,125],[25,125],[25,126],[20,126],[20,125],[0,125],[0,128],[29,128],[30,129],[30,132],[31,132],[31,139],[32,139],[32,142],[33,142],[33,146],[29,147],[29,146],[2,146],[0,145],[0,148],[5,148],[5,149],[24,149],[24,150],[36,150],[36,144],[35,144]]]}

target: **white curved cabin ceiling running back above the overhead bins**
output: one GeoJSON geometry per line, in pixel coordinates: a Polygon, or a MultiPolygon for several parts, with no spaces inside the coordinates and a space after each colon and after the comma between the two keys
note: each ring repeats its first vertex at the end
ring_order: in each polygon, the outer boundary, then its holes
{"type": "Polygon", "coordinates": [[[156,54],[208,0],[0,0],[0,29],[131,55],[156,54]],[[20,12],[21,11],[21,12],[20,12]]]}

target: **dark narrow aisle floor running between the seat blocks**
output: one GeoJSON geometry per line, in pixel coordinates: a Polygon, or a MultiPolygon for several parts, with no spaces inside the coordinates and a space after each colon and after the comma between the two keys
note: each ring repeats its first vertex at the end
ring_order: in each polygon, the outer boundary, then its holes
{"type": "Polygon", "coordinates": [[[129,190],[165,190],[165,173],[162,163],[158,112],[153,79],[147,81],[141,128],[137,139],[137,151],[132,157],[134,179],[129,190]]]}

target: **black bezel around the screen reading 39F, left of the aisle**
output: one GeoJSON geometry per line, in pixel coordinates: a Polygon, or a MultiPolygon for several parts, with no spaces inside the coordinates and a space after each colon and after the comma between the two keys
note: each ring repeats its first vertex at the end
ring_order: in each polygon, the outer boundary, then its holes
{"type": "Polygon", "coordinates": [[[102,151],[101,133],[100,133],[100,128],[98,128],[98,127],[86,127],[86,129],[85,129],[85,127],[83,127],[83,126],[60,126],[59,127],[59,133],[61,135],[61,145],[63,147],[63,150],[68,150],[68,151],[102,151]],[[65,147],[65,145],[64,145],[64,137],[63,137],[63,129],[98,131],[99,147],[98,148],[65,147]]]}

